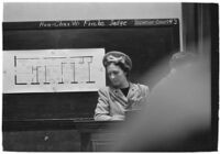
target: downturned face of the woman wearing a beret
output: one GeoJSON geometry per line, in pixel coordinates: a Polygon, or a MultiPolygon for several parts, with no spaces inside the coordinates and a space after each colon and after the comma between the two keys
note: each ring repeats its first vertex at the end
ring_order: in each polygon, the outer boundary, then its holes
{"type": "Polygon", "coordinates": [[[113,87],[120,88],[120,86],[127,82],[127,73],[113,63],[107,66],[107,75],[113,87]]]}

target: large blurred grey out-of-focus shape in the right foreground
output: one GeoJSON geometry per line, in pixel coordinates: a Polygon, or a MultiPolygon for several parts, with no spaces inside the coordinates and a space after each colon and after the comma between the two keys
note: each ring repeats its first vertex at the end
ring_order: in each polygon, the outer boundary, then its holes
{"type": "MultiPolygon", "coordinates": [[[[182,65],[154,87],[144,112],[124,127],[127,135],[119,141],[114,151],[211,150],[209,59],[193,58],[185,63],[184,57],[180,58],[182,65]]],[[[176,59],[172,66],[174,64],[177,66],[176,59]]]]}

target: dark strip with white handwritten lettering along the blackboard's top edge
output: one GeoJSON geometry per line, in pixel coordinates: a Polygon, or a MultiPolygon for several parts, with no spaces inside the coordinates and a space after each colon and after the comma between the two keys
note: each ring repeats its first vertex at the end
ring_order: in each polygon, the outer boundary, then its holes
{"type": "Polygon", "coordinates": [[[132,28],[178,25],[178,19],[134,19],[134,20],[69,20],[37,22],[3,22],[3,30],[43,30],[75,28],[132,28]]]}

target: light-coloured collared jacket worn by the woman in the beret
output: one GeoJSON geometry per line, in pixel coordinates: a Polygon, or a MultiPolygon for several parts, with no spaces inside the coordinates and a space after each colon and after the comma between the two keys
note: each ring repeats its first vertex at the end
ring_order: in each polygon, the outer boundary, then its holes
{"type": "Polygon", "coordinates": [[[146,103],[150,94],[148,87],[130,82],[130,89],[125,97],[121,89],[105,87],[98,91],[99,98],[95,110],[95,120],[124,120],[127,110],[141,109],[146,103]],[[134,101],[138,98],[138,101],[134,101]]]}

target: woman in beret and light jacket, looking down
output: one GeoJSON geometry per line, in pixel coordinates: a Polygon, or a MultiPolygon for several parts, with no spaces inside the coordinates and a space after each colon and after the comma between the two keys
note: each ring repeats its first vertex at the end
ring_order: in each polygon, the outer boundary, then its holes
{"type": "Polygon", "coordinates": [[[146,102],[148,87],[130,82],[132,62],[128,55],[109,52],[102,62],[111,86],[98,91],[95,120],[124,120],[125,111],[140,109],[146,102]]]}

